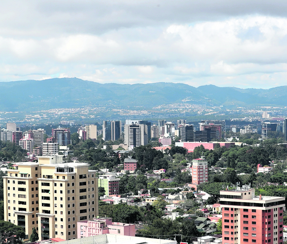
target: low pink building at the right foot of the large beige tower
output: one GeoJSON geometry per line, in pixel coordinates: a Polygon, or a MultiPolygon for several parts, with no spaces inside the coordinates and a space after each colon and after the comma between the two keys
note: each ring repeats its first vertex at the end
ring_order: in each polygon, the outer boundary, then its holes
{"type": "Polygon", "coordinates": [[[112,218],[99,217],[77,222],[77,238],[102,234],[135,236],[135,225],[112,222],[112,218]]]}

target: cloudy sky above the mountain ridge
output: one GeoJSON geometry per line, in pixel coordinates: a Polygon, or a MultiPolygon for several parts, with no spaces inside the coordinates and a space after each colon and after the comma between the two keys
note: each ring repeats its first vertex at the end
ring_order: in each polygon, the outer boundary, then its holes
{"type": "Polygon", "coordinates": [[[287,1],[0,1],[0,81],[271,88],[287,80],[287,1]]]}

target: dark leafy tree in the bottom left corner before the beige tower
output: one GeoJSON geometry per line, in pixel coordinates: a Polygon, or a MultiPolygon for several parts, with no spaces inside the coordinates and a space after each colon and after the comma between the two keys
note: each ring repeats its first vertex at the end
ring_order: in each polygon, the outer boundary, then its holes
{"type": "Polygon", "coordinates": [[[25,231],[21,226],[7,221],[0,221],[0,244],[7,243],[11,237],[14,244],[22,244],[25,236],[25,231]]]}

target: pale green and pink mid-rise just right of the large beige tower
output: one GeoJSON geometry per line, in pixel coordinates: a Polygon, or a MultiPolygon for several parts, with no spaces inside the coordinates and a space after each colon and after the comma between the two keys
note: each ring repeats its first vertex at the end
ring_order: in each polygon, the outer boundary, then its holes
{"type": "Polygon", "coordinates": [[[116,175],[100,175],[98,178],[98,187],[105,188],[105,195],[110,196],[119,194],[119,181],[116,175]]]}

